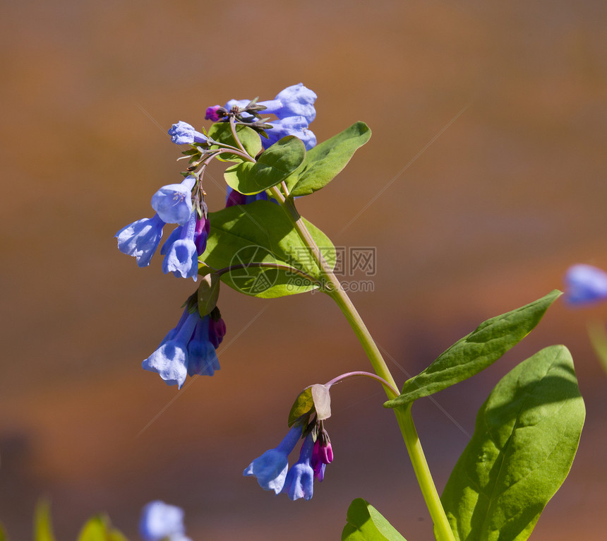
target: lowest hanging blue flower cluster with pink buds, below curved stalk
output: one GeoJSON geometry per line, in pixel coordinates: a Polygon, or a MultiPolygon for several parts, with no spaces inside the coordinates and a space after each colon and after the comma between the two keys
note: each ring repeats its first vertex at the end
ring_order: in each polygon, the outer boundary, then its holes
{"type": "Polygon", "coordinates": [[[310,431],[301,444],[299,460],[289,470],[288,457],[301,438],[302,430],[301,423],[294,424],[280,444],[253,460],[243,475],[257,477],[264,490],[273,490],[275,494],[284,492],[293,501],[311,499],[314,480],[324,479],[325,467],[333,460],[333,451],[324,429],[316,438],[310,431]]]}

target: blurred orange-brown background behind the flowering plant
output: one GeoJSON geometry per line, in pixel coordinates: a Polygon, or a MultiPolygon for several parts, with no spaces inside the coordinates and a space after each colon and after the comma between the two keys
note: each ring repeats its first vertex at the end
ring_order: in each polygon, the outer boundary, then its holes
{"type": "MultiPolygon", "coordinates": [[[[137,268],[113,235],[179,181],[171,124],[205,126],[209,105],[303,82],[318,94],[318,141],[357,120],[373,130],[299,208],[336,245],[375,247],[375,290],[353,299],[401,384],[484,319],[562,287],[570,264],[607,268],[607,4],[23,0],[3,2],[0,20],[0,521],[10,538],[30,538],[46,496],[60,540],[99,511],[136,539],[152,499],[184,507],[194,541],[336,540],[356,497],[407,539],[433,539],[371,381],[335,389],[335,462],[311,501],[241,476],[282,439],[303,387],[368,369],[329,298],[224,287],[222,369],[177,392],[140,362],[194,285],[163,275],[158,256],[137,268]]],[[[215,166],[211,210],[221,184],[215,166]]],[[[436,395],[455,422],[429,400],[416,405],[439,491],[500,376],[564,343],[587,424],[532,538],[603,537],[607,378],[589,319],[607,320],[607,307],[559,301],[494,367],[436,395]]]]}

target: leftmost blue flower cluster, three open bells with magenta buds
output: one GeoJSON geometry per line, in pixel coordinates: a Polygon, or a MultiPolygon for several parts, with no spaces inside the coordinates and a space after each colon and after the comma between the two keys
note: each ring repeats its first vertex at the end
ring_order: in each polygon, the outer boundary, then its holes
{"type": "Polygon", "coordinates": [[[164,225],[177,227],[162,245],[160,254],[164,256],[162,271],[182,278],[198,279],[198,256],[203,254],[209,234],[206,206],[198,201],[195,208],[192,191],[196,187],[196,177],[186,177],[181,184],[162,186],[152,196],[152,208],[156,214],[152,218],[137,220],[123,227],[114,236],[118,239],[118,249],[133,256],[140,267],[150,265],[155,254],[164,225]]]}

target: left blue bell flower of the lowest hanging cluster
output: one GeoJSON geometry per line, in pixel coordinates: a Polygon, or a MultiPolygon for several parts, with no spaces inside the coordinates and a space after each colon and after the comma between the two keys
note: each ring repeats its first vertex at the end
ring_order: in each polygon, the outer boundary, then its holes
{"type": "Polygon", "coordinates": [[[265,451],[262,456],[253,460],[242,475],[257,477],[261,488],[273,490],[275,494],[279,494],[287,477],[289,454],[295,448],[299,438],[301,438],[301,424],[296,423],[276,448],[265,451]]]}

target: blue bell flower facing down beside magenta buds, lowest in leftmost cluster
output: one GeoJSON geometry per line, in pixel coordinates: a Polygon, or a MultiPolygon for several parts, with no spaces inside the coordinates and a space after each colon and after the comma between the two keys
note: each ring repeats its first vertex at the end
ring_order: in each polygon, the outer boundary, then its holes
{"type": "Polygon", "coordinates": [[[179,278],[198,280],[198,250],[194,235],[196,234],[196,217],[193,210],[185,227],[176,227],[162,245],[160,254],[164,254],[162,272],[173,273],[179,278]]]}

